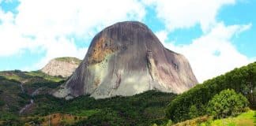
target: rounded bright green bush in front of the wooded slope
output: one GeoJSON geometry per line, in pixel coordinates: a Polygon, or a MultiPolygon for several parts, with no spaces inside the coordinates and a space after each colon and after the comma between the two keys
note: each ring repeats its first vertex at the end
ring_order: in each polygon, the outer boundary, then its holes
{"type": "Polygon", "coordinates": [[[213,96],[208,103],[207,111],[216,118],[235,116],[243,113],[248,104],[247,98],[243,95],[235,93],[233,89],[227,89],[213,96]]]}

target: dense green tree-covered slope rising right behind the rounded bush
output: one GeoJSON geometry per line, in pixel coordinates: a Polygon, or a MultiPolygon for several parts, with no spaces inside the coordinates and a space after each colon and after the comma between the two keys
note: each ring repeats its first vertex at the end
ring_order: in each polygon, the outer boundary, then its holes
{"type": "Polygon", "coordinates": [[[252,63],[217,76],[212,80],[207,80],[190,91],[177,96],[168,105],[167,117],[179,122],[203,116],[207,114],[207,105],[213,96],[228,88],[243,94],[250,102],[250,106],[255,106],[255,86],[256,63],[252,63]]]}

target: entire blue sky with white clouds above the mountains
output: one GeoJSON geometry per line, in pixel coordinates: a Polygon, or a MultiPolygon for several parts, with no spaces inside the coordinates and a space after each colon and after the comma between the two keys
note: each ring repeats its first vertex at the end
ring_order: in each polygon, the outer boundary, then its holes
{"type": "Polygon", "coordinates": [[[254,0],[0,0],[0,70],[83,59],[94,35],[124,20],[186,56],[199,82],[256,61],[254,0]]]}

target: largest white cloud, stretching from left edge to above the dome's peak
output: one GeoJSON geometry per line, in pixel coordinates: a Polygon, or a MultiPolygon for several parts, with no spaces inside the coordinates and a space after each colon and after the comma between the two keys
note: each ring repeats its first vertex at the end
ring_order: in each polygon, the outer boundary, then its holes
{"type": "Polygon", "coordinates": [[[92,39],[107,25],[145,16],[137,0],[21,0],[17,11],[14,16],[0,7],[0,57],[27,49],[45,50],[46,56],[31,69],[40,69],[53,57],[83,58],[87,47],[76,46],[73,38],[92,39]]]}

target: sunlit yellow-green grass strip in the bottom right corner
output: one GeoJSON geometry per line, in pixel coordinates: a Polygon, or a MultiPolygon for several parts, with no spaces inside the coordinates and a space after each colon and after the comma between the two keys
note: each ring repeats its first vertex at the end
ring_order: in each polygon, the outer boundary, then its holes
{"type": "MultiPolygon", "coordinates": [[[[246,113],[240,114],[238,117],[228,117],[219,120],[209,120],[208,125],[211,126],[254,126],[256,125],[255,111],[249,110],[246,113]]],[[[205,126],[207,123],[202,123],[205,126]]]]}

